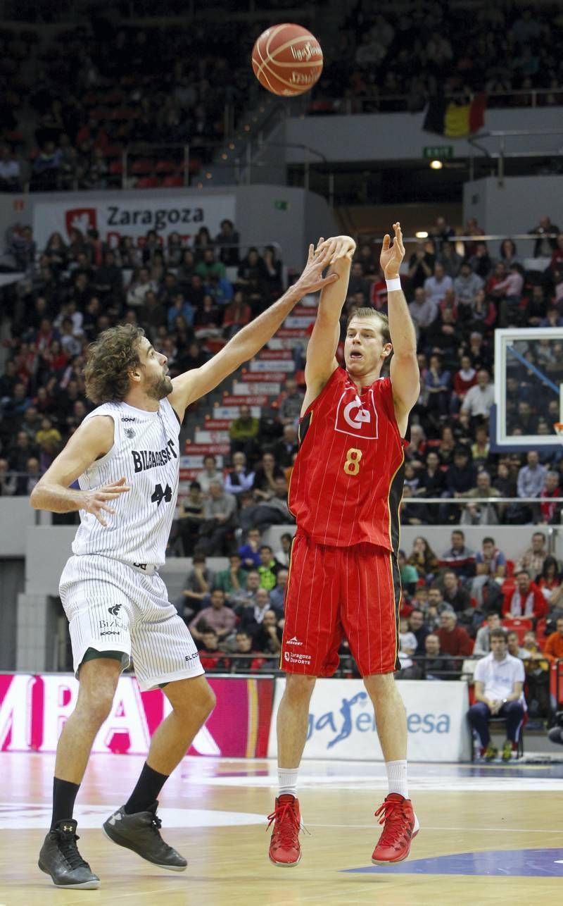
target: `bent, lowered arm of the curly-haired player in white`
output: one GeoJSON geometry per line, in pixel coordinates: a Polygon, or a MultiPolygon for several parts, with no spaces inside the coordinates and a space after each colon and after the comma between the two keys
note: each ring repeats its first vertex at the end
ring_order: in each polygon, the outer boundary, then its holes
{"type": "Polygon", "coordinates": [[[96,516],[101,525],[106,525],[102,514],[112,514],[111,502],[129,491],[125,478],[91,491],[80,491],[69,486],[95,459],[104,456],[112,445],[113,419],[110,416],[100,415],[81,424],[33,487],[30,497],[33,509],[50,510],[52,513],[72,513],[84,509],[96,516]]]}

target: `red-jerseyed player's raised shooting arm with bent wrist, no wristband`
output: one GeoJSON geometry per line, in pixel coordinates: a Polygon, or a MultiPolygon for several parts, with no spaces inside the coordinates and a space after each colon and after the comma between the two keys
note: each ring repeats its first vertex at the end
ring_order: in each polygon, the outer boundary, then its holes
{"type": "Polygon", "coordinates": [[[350,236],[336,236],[320,243],[317,253],[321,254],[325,248],[331,250],[329,274],[338,274],[339,280],[320,294],[317,320],[307,346],[307,394],[304,400],[307,405],[319,396],[330,375],[339,366],[335,356],[340,337],[340,313],[348,294],[350,264],[356,243],[350,236]]]}

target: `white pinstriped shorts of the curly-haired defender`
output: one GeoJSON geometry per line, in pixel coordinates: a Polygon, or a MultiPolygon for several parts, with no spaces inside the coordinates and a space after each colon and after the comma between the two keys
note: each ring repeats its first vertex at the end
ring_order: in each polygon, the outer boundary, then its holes
{"type": "Polygon", "coordinates": [[[186,623],[168,601],[158,573],[99,554],[72,556],[59,593],[69,621],[74,672],[89,648],[123,651],[143,691],[204,673],[186,623]]]}

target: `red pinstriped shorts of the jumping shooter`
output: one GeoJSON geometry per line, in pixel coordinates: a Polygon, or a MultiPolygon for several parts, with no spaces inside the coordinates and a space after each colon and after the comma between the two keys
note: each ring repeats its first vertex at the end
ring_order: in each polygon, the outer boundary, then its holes
{"type": "Polygon", "coordinates": [[[281,669],[329,677],[343,638],[362,676],[399,670],[396,558],[376,545],[317,545],[297,531],[285,596],[281,669]]]}

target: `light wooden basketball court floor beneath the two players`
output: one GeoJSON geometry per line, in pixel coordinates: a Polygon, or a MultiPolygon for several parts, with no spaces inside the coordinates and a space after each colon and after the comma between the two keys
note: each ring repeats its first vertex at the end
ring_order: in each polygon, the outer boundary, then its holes
{"type": "Polygon", "coordinates": [[[563,903],[563,765],[410,766],[421,823],[408,861],[371,864],[384,766],[306,761],[300,799],[309,834],[292,869],[268,861],[272,761],[186,758],[160,797],[163,834],[189,861],[177,874],[110,843],[100,824],[121,805],[142,757],[96,755],[76,817],[98,891],[61,891],[37,868],[50,820],[52,755],[0,754],[0,906],[393,906],[563,903]],[[501,883],[502,882],[502,883],[501,883]]]}

